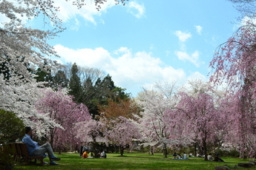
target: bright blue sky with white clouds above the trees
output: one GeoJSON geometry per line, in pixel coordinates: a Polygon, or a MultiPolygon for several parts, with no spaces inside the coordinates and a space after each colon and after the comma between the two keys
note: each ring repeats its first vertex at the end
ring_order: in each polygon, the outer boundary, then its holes
{"type": "Polygon", "coordinates": [[[136,97],[156,82],[208,81],[215,48],[237,29],[240,16],[226,0],[91,0],[77,10],[57,0],[67,28],[49,41],[62,63],[99,68],[136,97]]]}

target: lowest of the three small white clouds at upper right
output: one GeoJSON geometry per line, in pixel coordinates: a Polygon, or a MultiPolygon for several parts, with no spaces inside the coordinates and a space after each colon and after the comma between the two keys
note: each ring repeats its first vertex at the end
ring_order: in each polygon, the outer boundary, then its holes
{"type": "Polygon", "coordinates": [[[182,51],[177,51],[175,52],[175,54],[181,61],[189,61],[192,64],[194,64],[196,67],[200,67],[199,51],[195,50],[194,53],[192,53],[191,55],[189,55],[187,52],[182,52],[182,51]]]}

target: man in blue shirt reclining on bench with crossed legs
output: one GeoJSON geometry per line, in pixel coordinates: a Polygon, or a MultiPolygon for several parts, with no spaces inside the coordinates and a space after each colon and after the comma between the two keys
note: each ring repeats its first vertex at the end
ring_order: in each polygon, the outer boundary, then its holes
{"type": "Polygon", "coordinates": [[[59,165],[54,161],[60,160],[60,158],[54,156],[53,149],[50,146],[50,143],[45,143],[42,146],[39,146],[37,142],[31,139],[31,135],[32,135],[32,129],[29,126],[25,127],[25,135],[22,139],[22,142],[26,143],[28,154],[31,157],[33,156],[46,157],[45,152],[47,152],[50,159],[50,165],[54,165],[54,166],[59,165]]]}

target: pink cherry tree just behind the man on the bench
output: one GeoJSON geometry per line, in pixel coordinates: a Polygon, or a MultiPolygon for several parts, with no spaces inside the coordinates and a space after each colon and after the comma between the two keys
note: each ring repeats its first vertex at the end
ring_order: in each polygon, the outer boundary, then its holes
{"type": "Polygon", "coordinates": [[[36,109],[42,115],[49,117],[58,126],[50,127],[50,144],[61,149],[68,143],[77,143],[77,131],[74,128],[78,122],[91,120],[88,108],[83,104],[73,102],[66,89],[53,92],[52,89],[42,89],[44,97],[36,103],[36,109]]]}

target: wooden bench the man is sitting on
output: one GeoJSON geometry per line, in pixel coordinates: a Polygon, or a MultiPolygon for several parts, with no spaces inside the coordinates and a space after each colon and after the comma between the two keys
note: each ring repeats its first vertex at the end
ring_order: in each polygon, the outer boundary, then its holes
{"type": "Polygon", "coordinates": [[[15,143],[16,147],[16,157],[22,157],[24,159],[24,163],[30,163],[31,160],[40,160],[41,165],[44,164],[44,157],[42,156],[35,156],[35,157],[30,157],[27,151],[27,145],[26,143],[15,143]]]}

